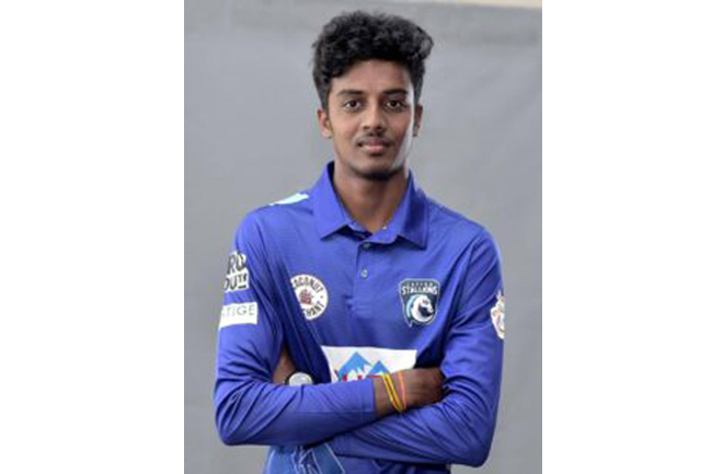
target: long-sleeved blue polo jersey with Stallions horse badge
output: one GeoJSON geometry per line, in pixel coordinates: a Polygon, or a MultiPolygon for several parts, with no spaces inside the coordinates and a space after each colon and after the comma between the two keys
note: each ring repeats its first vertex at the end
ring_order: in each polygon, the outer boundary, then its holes
{"type": "Polygon", "coordinates": [[[478,223],[407,188],[376,233],[313,187],[250,212],[228,259],[215,415],[227,444],[266,444],[265,473],[449,472],[481,465],[504,349],[499,256],[478,223]],[[283,345],[313,385],[272,382],[283,345]],[[445,396],[378,418],[372,378],[439,367],[445,396]]]}

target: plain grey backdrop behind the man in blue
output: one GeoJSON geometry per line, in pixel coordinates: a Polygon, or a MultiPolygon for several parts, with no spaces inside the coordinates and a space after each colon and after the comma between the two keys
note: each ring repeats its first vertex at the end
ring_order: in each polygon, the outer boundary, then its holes
{"type": "Polygon", "coordinates": [[[185,472],[262,470],[266,448],[225,447],[213,421],[227,255],[249,210],[310,186],[329,160],[310,45],[355,8],[402,14],[435,39],[410,164],[430,197],[494,234],[507,294],[499,418],[476,471],[540,473],[541,11],[315,0],[185,2],[185,472]]]}

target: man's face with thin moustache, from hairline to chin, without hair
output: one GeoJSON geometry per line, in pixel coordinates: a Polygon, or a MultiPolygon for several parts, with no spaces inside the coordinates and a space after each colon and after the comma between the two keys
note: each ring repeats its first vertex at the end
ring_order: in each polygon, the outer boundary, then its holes
{"type": "Polygon", "coordinates": [[[332,79],[329,109],[319,109],[318,117],[322,136],[334,141],[344,172],[388,180],[403,170],[422,114],[407,69],[371,59],[332,79]]]}

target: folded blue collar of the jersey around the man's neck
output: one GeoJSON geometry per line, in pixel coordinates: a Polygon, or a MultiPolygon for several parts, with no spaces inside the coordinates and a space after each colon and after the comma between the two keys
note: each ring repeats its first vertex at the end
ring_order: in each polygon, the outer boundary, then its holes
{"type": "MultiPolygon", "coordinates": [[[[332,183],[333,170],[334,162],[332,161],[324,166],[321,177],[310,193],[313,199],[317,231],[321,239],[325,239],[344,227],[354,230],[361,229],[358,222],[342,206],[334,190],[332,183]]],[[[400,235],[420,247],[425,247],[427,244],[427,197],[415,183],[413,173],[409,172],[407,189],[393,218],[384,229],[371,235],[369,240],[388,244],[395,241],[400,235]]]]}

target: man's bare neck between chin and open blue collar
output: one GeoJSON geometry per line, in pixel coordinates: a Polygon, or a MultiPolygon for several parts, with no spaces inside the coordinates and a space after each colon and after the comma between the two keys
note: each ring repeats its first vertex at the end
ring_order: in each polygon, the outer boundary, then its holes
{"type": "Polygon", "coordinates": [[[388,180],[368,180],[347,175],[334,165],[334,189],[348,213],[371,233],[382,229],[395,213],[407,188],[407,169],[403,166],[388,180]]]}

